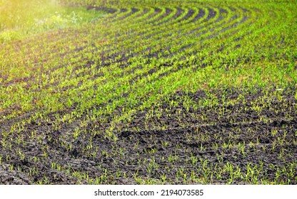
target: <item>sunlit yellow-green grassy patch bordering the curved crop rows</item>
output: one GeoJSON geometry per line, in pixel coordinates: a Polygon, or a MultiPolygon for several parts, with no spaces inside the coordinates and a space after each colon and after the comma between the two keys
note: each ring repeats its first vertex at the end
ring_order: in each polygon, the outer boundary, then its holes
{"type": "Polygon", "coordinates": [[[77,26],[102,16],[104,13],[94,10],[61,6],[56,0],[0,0],[0,43],[77,26]]]}

